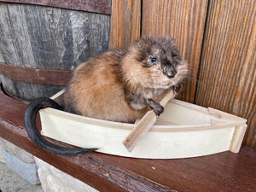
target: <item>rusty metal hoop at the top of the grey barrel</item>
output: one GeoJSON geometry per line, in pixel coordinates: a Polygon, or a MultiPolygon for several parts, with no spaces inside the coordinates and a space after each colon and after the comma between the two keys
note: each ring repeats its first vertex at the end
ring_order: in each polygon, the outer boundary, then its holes
{"type": "Polygon", "coordinates": [[[75,9],[99,14],[111,14],[111,0],[0,0],[8,3],[27,3],[49,7],[75,9]]]}

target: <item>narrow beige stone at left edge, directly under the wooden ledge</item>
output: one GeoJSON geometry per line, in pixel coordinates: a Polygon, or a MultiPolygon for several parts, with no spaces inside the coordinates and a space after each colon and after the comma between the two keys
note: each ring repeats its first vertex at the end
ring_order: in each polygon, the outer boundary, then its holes
{"type": "MultiPolygon", "coordinates": [[[[26,152],[22,148],[17,147],[13,143],[9,143],[5,139],[0,137],[0,149],[6,149],[10,154],[13,154],[23,160],[26,163],[33,163],[35,162],[34,157],[32,154],[26,152]]],[[[1,150],[2,151],[2,150],[1,150]]],[[[1,152],[0,152],[0,160],[1,160],[1,152]]]]}

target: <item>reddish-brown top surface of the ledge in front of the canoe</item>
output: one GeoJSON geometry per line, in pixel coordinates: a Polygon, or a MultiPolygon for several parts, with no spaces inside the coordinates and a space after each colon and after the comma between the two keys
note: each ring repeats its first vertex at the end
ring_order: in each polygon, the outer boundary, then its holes
{"type": "Polygon", "coordinates": [[[174,191],[249,192],[256,189],[255,150],[242,146],[239,154],[224,152],[182,160],[138,160],[124,157],[113,160],[111,155],[100,153],[97,157],[166,185],[174,191]]]}

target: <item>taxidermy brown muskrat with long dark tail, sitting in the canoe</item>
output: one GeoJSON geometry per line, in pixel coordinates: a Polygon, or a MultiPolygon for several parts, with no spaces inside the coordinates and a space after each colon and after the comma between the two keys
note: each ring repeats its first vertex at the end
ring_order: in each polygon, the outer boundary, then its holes
{"type": "MultiPolygon", "coordinates": [[[[113,49],[79,65],[64,95],[64,110],[96,119],[134,123],[158,103],[165,90],[179,90],[188,64],[173,38],[143,37],[128,49],[113,49]]],[[[80,154],[96,148],[62,148],[42,137],[35,124],[41,108],[61,107],[49,98],[38,98],[26,109],[24,121],[32,141],[54,154],[80,154]]]]}

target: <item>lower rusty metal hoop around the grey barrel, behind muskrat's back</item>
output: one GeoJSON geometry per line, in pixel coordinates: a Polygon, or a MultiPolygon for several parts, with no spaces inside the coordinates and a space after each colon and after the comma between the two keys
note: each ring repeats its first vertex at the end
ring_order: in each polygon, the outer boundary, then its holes
{"type": "Polygon", "coordinates": [[[17,67],[0,62],[0,74],[9,79],[32,84],[65,85],[71,73],[72,70],[17,67]]]}

